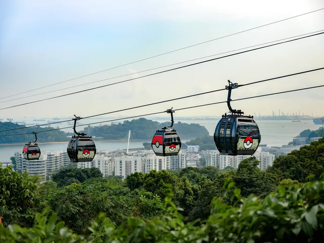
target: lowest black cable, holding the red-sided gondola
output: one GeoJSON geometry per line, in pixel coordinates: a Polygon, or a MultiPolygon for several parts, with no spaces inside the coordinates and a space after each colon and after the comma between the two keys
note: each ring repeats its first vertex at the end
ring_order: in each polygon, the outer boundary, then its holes
{"type": "MultiPolygon", "coordinates": [[[[288,91],[276,92],[276,93],[265,94],[265,95],[257,95],[257,96],[239,98],[239,99],[231,100],[231,102],[233,102],[233,101],[239,101],[239,100],[248,100],[248,99],[260,98],[260,97],[266,97],[266,96],[271,96],[271,95],[291,93],[291,92],[302,91],[302,90],[317,89],[317,88],[321,88],[321,87],[324,87],[324,85],[307,87],[307,88],[301,88],[301,89],[296,89],[296,90],[288,90],[288,91]]],[[[189,107],[174,109],[174,111],[177,111],[177,110],[185,110],[185,109],[192,109],[192,108],[209,106],[209,105],[216,105],[216,104],[222,104],[222,103],[227,103],[227,100],[226,101],[219,101],[219,102],[214,102],[214,103],[203,104],[203,105],[195,105],[195,106],[189,106],[189,107]]],[[[125,119],[130,119],[130,118],[135,118],[135,117],[142,117],[142,116],[148,116],[148,115],[155,115],[155,114],[160,114],[160,113],[165,113],[165,112],[166,111],[160,111],[160,112],[154,112],[154,113],[148,113],[148,114],[142,114],[142,115],[129,116],[129,117],[124,117],[124,118],[117,118],[117,119],[112,119],[112,120],[98,121],[96,123],[76,125],[75,127],[82,127],[82,126],[94,125],[94,124],[99,124],[99,123],[108,123],[109,121],[125,120],[125,119]]],[[[73,127],[56,128],[56,129],[51,129],[51,130],[38,131],[37,133],[44,133],[44,132],[50,132],[50,131],[55,131],[55,130],[68,129],[68,128],[73,128],[73,127]]],[[[32,133],[8,134],[8,135],[0,135],[0,137],[17,136],[17,135],[28,135],[28,134],[32,134],[32,133]]]]}

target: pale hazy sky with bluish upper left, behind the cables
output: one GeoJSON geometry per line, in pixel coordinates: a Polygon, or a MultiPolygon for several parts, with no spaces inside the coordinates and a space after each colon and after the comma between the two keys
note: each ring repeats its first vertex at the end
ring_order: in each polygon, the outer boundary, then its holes
{"type": "MultiPolygon", "coordinates": [[[[323,0],[0,1],[0,98],[158,55],[324,7],[323,0]]],[[[172,54],[6,98],[0,102],[131,74],[324,29],[324,10],[172,54]]],[[[11,109],[0,117],[87,116],[324,67],[324,34],[94,91],[11,109]]],[[[189,62],[192,63],[192,62],[189,62]]],[[[179,65],[176,65],[179,66],[179,65]]],[[[173,66],[173,67],[176,67],[173,66]]],[[[167,68],[0,103],[0,108],[97,87],[167,68]]],[[[242,87],[232,99],[324,84],[324,70],[242,87]]],[[[119,112],[139,115],[225,101],[225,91],[119,112]]],[[[324,88],[233,102],[247,114],[324,115],[324,88]]],[[[226,104],[178,111],[219,116],[226,104]]]]}

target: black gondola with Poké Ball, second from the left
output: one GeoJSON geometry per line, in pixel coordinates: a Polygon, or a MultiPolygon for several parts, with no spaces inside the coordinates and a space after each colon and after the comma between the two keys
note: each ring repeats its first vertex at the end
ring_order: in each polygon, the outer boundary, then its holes
{"type": "Polygon", "coordinates": [[[96,155],[96,145],[91,137],[86,136],[85,133],[77,133],[75,131],[76,120],[80,117],[74,115],[73,130],[77,136],[72,136],[69,144],[67,145],[67,154],[72,162],[89,162],[92,161],[96,155]]]}

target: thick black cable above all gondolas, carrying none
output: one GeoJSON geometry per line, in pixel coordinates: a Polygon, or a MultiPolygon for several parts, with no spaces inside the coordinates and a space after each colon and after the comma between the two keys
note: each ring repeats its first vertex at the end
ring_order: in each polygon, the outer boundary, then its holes
{"type": "Polygon", "coordinates": [[[139,78],[143,78],[143,77],[153,76],[153,75],[156,75],[156,74],[161,74],[161,73],[165,73],[165,72],[169,72],[169,71],[174,71],[174,70],[178,70],[178,69],[181,69],[181,68],[194,66],[194,65],[197,65],[197,64],[202,64],[202,63],[215,61],[215,60],[226,58],[226,57],[235,56],[235,55],[238,55],[238,54],[243,54],[243,53],[247,53],[247,52],[260,50],[260,49],[263,49],[263,48],[268,48],[268,47],[272,47],[272,46],[276,46],[276,45],[280,45],[280,44],[285,44],[285,43],[289,43],[289,42],[293,42],[293,41],[298,41],[299,39],[308,38],[308,37],[316,36],[316,35],[319,35],[319,34],[324,34],[324,32],[320,32],[320,33],[316,33],[316,34],[312,34],[312,35],[308,35],[308,36],[303,36],[303,37],[299,37],[299,38],[296,38],[296,39],[291,39],[289,41],[275,43],[275,44],[271,44],[271,45],[264,46],[264,47],[258,47],[258,48],[255,48],[255,49],[251,49],[251,50],[247,50],[247,51],[243,51],[243,52],[238,52],[238,53],[230,54],[230,55],[227,55],[227,56],[222,56],[222,57],[217,57],[217,58],[213,58],[213,59],[209,59],[209,60],[205,60],[205,61],[201,61],[201,62],[196,62],[196,63],[192,63],[192,64],[188,64],[188,65],[184,65],[184,66],[180,66],[180,67],[176,67],[176,68],[171,68],[171,69],[167,69],[167,70],[164,70],[164,71],[154,72],[154,73],[150,73],[150,74],[147,74],[147,75],[144,75],[144,76],[135,77],[135,78],[123,80],[123,81],[120,81],[120,82],[116,82],[116,83],[113,83],[113,84],[103,85],[103,86],[99,86],[99,87],[95,87],[95,88],[91,88],[91,89],[87,89],[87,90],[81,90],[81,91],[77,91],[77,92],[72,92],[72,93],[68,93],[68,94],[64,94],[64,95],[54,96],[54,97],[50,97],[50,98],[46,98],[46,99],[42,99],[42,100],[31,101],[31,102],[27,102],[27,103],[23,103],[23,104],[19,104],[19,105],[13,105],[13,106],[1,108],[0,110],[14,108],[14,107],[22,106],[22,105],[28,105],[28,104],[32,104],[32,103],[36,103],[36,102],[45,101],[45,100],[51,100],[51,99],[60,98],[60,97],[68,96],[68,95],[83,93],[83,92],[86,92],[86,91],[95,90],[95,89],[99,89],[99,88],[104,88],[104,87],[115,85],[115,84],[121,84],[121,83],[129,82],[131,80],[135,80],[135,79],[139,79],[139,78]]]}

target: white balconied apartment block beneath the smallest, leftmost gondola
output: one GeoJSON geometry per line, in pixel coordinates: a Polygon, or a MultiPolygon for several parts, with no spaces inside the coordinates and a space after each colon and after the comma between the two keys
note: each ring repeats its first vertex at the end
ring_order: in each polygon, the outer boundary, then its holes
{"type": "Polygon", "coordinates": [[[23,158],[21,152],[15,152],[17,170],[27,171],[29,175],[41,175],[44,180],[46,176],[51,180],[54,172],[62,167],[67,167],[71,160],[66,151],[45,151],[37,160],[26,160],[23,158]]]}

